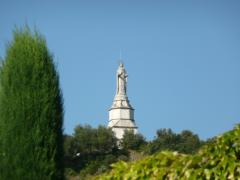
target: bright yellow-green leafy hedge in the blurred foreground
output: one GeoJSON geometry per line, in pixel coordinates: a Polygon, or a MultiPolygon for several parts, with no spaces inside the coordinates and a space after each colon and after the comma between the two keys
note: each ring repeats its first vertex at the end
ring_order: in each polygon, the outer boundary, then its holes
{"type": "Polygon", "coordinates": [[[195,155],[162,151],[143,160],[113,165],[95,179],[240,179],[240,125],[195,155]]]}

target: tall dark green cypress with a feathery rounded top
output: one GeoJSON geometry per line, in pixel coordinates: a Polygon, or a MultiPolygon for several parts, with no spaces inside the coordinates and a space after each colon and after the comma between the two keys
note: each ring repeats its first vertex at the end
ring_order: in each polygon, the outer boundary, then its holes
{"type": "Polygon", "coordinates": [[[63,179],[63,102],[45,39],[14,31],[0,68],[0,179],[63,179]]]}

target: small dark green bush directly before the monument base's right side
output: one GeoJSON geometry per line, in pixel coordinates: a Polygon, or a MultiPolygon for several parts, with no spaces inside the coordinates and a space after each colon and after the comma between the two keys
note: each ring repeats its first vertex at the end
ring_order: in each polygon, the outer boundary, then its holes
{"type": "Polygon", "coordinates": [[[124,149],[139,150],[147,142],[141,134],[134,134],[131,130],[126,130],[121,140],[121,147],[124,149]]]}

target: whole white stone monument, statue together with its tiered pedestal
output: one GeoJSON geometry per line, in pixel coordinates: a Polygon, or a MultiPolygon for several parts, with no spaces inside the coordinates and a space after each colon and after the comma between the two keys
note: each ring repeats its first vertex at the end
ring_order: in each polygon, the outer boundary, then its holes
{"type": "Polygon", "coordinates": [[[127,77],[124,65],[120,63],[116,75],[116,95],[112,107],[109,109],[108,122],[108,127],[112,128],[118,139],[122,139],[125,130],[133,130],[134,133],[137,133],[134,109],[127,97],[127,77]]]}

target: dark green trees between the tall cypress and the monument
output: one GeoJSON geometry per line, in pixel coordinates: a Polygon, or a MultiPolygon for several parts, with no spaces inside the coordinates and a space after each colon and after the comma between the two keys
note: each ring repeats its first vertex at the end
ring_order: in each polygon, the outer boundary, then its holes
{"type": "Polygon", "coordinates": [[[82,179],[109,170],[120,158],[127,159],[127,152],[117,148],[112,130],[104,126],[78,125],[73,136],[65,136],[64,150],[66,167],[80,172],[82,179]]]}

